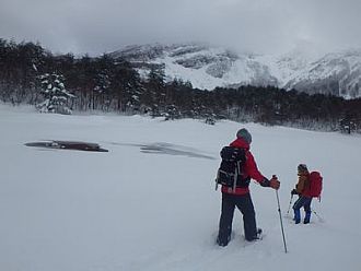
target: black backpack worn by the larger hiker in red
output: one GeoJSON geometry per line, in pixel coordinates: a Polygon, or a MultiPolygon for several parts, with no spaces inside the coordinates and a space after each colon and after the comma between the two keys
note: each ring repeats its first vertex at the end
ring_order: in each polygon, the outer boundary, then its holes
{"type": "Polygon", "coordinates": [[[222,162],[218,169],[216,179],[216,190],[218,185],[230,187],[235,190],[236,187],[248,187],[249,178],[243,178],[243,166],[246,162],[246,152],[244,149],[235,146],[224,146],[221,151],[222,162]]]}

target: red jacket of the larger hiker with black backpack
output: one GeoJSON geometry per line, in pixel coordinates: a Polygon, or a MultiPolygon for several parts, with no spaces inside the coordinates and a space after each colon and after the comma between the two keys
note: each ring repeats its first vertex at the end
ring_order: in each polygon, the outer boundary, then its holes
{"type": "MultiPolygon", "coordinates": [[[[258,182],[261,182],[265,179],[265,176],[261,175],[257,168],[256,161],[249,151],[249,144],[247,142],[245,142],[243,139],[236,139],[230,145],[235,146],[235,148],[242,148],[242,149],[246,150],[246,163],[243,168],[243,172],[244,172],[243,177],[244,178],[251,177],[252,179],[255,179],[258,182]]],[[[248,189],[248,187],[236,187],[235,191],[234,191],[233,188],[222,186],[222,192],[233,193],[233,195],[246,195],[246,193],[249,193],[249,189],[248,189]]]]}

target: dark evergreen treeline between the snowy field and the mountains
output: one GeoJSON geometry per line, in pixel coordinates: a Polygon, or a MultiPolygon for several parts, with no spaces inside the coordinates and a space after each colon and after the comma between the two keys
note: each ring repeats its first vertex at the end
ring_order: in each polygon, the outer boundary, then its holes
{"type": "Polygon", "coordinates": [[[203,91],[180,80],[166,82],[161,66],[151,66],[144,79],[124,59],[113,59],[107,55],[80,58],[71,54],[54,55],[38,44],[0,39],[2,102],[38,105],[46,97],[56,95],[50,92],[55,89],[54,83],[44,81],[45,74],[56,75],[60,89],[72,94],[63,98],[72,110],[149,114],[165,116],[166,119],[203,118],[209,123],[226,118],[361,132],[360,98],[348,101],[252,85],[203,91]]]}

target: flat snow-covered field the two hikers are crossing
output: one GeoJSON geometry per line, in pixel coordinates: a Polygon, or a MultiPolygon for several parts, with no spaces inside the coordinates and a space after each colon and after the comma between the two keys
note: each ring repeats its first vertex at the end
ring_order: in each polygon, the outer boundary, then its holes
{"type": "Polygon", "coordinates": [[[219,151],[243,127],[231,121],[60,116],[0,105],[0,270],[3,271],[357,271],[361,270],[361,138],[244,125],[276,192],[251,184],[260,241],[214,245],[219,151]],[[44,140],[100,143],[109,152],[25,146],[44,140]],[[286,213],[296,166],[324,176],[308,225],[286,213]]]}

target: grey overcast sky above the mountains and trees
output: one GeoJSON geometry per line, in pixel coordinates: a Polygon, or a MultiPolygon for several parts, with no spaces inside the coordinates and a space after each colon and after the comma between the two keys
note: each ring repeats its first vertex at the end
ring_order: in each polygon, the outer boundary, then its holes
{"type": "Polygon", "coordinates": [[[54,52],[203,42],[281,52],[361,48],[361,0],[0,0],[0,38],[54,52]]]}

